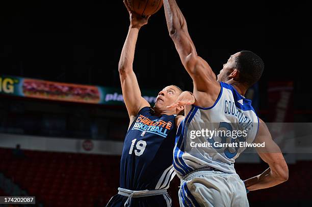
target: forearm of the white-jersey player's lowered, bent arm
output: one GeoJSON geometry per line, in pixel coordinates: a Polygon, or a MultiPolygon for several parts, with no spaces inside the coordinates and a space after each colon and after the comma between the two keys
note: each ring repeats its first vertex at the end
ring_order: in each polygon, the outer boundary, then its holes
{"type": "Polygon", "coordinates": [[[268,168],[262,174],[254,176],[253,178],[247,179],[245,182],[245,187],[249,191],[270,188],[285,182],[287,179],[281,178],[279,175],[271,171],[268,168]]]}

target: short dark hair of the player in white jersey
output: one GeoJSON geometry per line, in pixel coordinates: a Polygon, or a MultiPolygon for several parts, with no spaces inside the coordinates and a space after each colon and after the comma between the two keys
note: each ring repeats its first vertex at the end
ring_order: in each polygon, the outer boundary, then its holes
{"type": "Polygon", "coordinates": [[[257,54],[243,50],[236,57],[236,68],[240,71],[239,81],[250,87],[260,79],[264,62],[257,54]]]}

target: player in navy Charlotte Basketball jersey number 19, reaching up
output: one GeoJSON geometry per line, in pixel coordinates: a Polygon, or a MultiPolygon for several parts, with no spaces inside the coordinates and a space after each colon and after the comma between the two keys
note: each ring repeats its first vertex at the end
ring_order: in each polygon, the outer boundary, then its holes
{"type": "MultiPolygon", "coordinates": [[[[130,123],[120,162],[120,188],[107,206],[171,206],[167,189],[175,175],[172,150],[177,126],[184,117],[176,114],[183,112],[184,106],[167,106],[182,91],[175,85],[163,88],[153,108],[141,96],[133,61],[139,30],[149,17],[132,13],[125,1],[124,4],[130,26],[121,52],[119,74],[130,123]]],[[[191,93],[183,94],[189,97],[189,104],[194,102],[191,93]]]]}

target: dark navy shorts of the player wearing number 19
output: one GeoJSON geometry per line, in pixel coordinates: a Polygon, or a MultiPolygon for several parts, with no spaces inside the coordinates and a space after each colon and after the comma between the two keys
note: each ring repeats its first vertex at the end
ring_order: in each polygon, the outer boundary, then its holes
{"type": "MultiPolygon", "coordinates": [[[[114,195],[106,207],[124,207],[128,197],[123,195],[114,195]]],[[[129,207],[164,207],[171,206],[171,198],[168,194],[131,198],[129,207]]]]}

